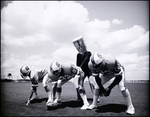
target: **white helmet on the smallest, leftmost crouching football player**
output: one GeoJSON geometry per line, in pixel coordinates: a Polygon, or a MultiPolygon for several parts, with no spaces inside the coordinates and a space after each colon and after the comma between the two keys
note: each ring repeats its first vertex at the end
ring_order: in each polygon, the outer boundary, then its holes
{"type": "Polygon", "coordinates": [[[27,76],[29,76],[31,73],[31,69],[28,65],[24,65],[20,68],[20,75],[25,78],[27,76]]]}

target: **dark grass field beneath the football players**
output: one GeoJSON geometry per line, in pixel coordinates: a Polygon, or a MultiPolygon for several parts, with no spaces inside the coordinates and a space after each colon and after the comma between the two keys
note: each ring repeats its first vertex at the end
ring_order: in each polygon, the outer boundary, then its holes
{"type": "MultiPolygon", "coordinates": [[[[106,84],[105,86],[107,86],[106,84]]],[[[149,83],[126,83],[135,107],[134,115],[127,115],[127,108],[118,86],[109,97],[101,97],[98,109],[81,110],[82,102],[76,101],[76,90],[72,83],[62,88],[62,104],[53,110],[46,109],[47,93],[39,84],[39,100],[26,106],[30,83],[1,82],[1,116],[149,116],[149,83]]],[[[92,93],[89,84],[85,83],[89,103],[92,93]]]]}

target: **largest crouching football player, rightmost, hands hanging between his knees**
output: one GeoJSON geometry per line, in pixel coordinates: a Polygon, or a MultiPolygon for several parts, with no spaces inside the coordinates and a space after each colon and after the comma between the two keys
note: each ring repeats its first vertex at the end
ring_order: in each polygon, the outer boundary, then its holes
{"type": "Polygon", "coordinates": [[[123,97],[127,102],[127,114],[134,114],[135,108],[132,104],[131,96],[129,90],[125,87],[125,69],[114,57],[102,57],[99,53],[94,53],[88,64],[92,71],[92,76],[90,78],[95,82],[95,92],[93,95],[93,102],[88,107],[88,109],[93,109],[97,107],[97,99],[100,95],[109,96],[111,90],[118,85],[123,97]],[[99,74],[100,73],[100,74],[99,74]],[[113,82],[104,89],[103,85],[115,77],[113,82]]]}

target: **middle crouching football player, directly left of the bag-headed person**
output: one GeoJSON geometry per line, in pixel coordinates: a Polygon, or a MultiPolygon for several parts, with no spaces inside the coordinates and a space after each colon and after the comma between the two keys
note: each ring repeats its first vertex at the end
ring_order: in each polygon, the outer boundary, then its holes
{"type": "MultiPolygon", "coordinates": [[[[73,64],[60,64],[58,61],[53,61],[50,65],[50,72],[48,77],[43,79],[43,85],[45,84],[45,87],[47,87],[47,81],[57,81],[56,85],[56,99],[53,100],[54,96],[50,96],[47,102],[47,106],[56,105],[59,102],[61,102],[61,92],[62,92],[62,85],[64,85],[66,82],[68,82],[70,79],[75,78],[76,82],[74,82],[74,85],[76,88],[80,87],[82,84],[80,84],[80,79],[83,79],[84,72],[81,70],[80,67],[74,66],[73,64]]],[[[83,87],[83,86],[82,86],[83,87]]],[[[86,109],[89,106],[89,103],[87,101],[87,97],[85,94],[85,89],[83,89],[79,92],[82,100],[83,100],[83,106],[81,109],[86,109]]]]}

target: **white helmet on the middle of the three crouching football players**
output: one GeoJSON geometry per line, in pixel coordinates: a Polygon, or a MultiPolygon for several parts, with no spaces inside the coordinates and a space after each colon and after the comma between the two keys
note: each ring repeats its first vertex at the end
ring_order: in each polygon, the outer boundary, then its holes
{"type": "Polygon", "coordinates": [[[54,76],[59,76],[61,73],[61,64],[57,61],[53,61],[50,65],[50,72],[54,75],[54,76]]]}

